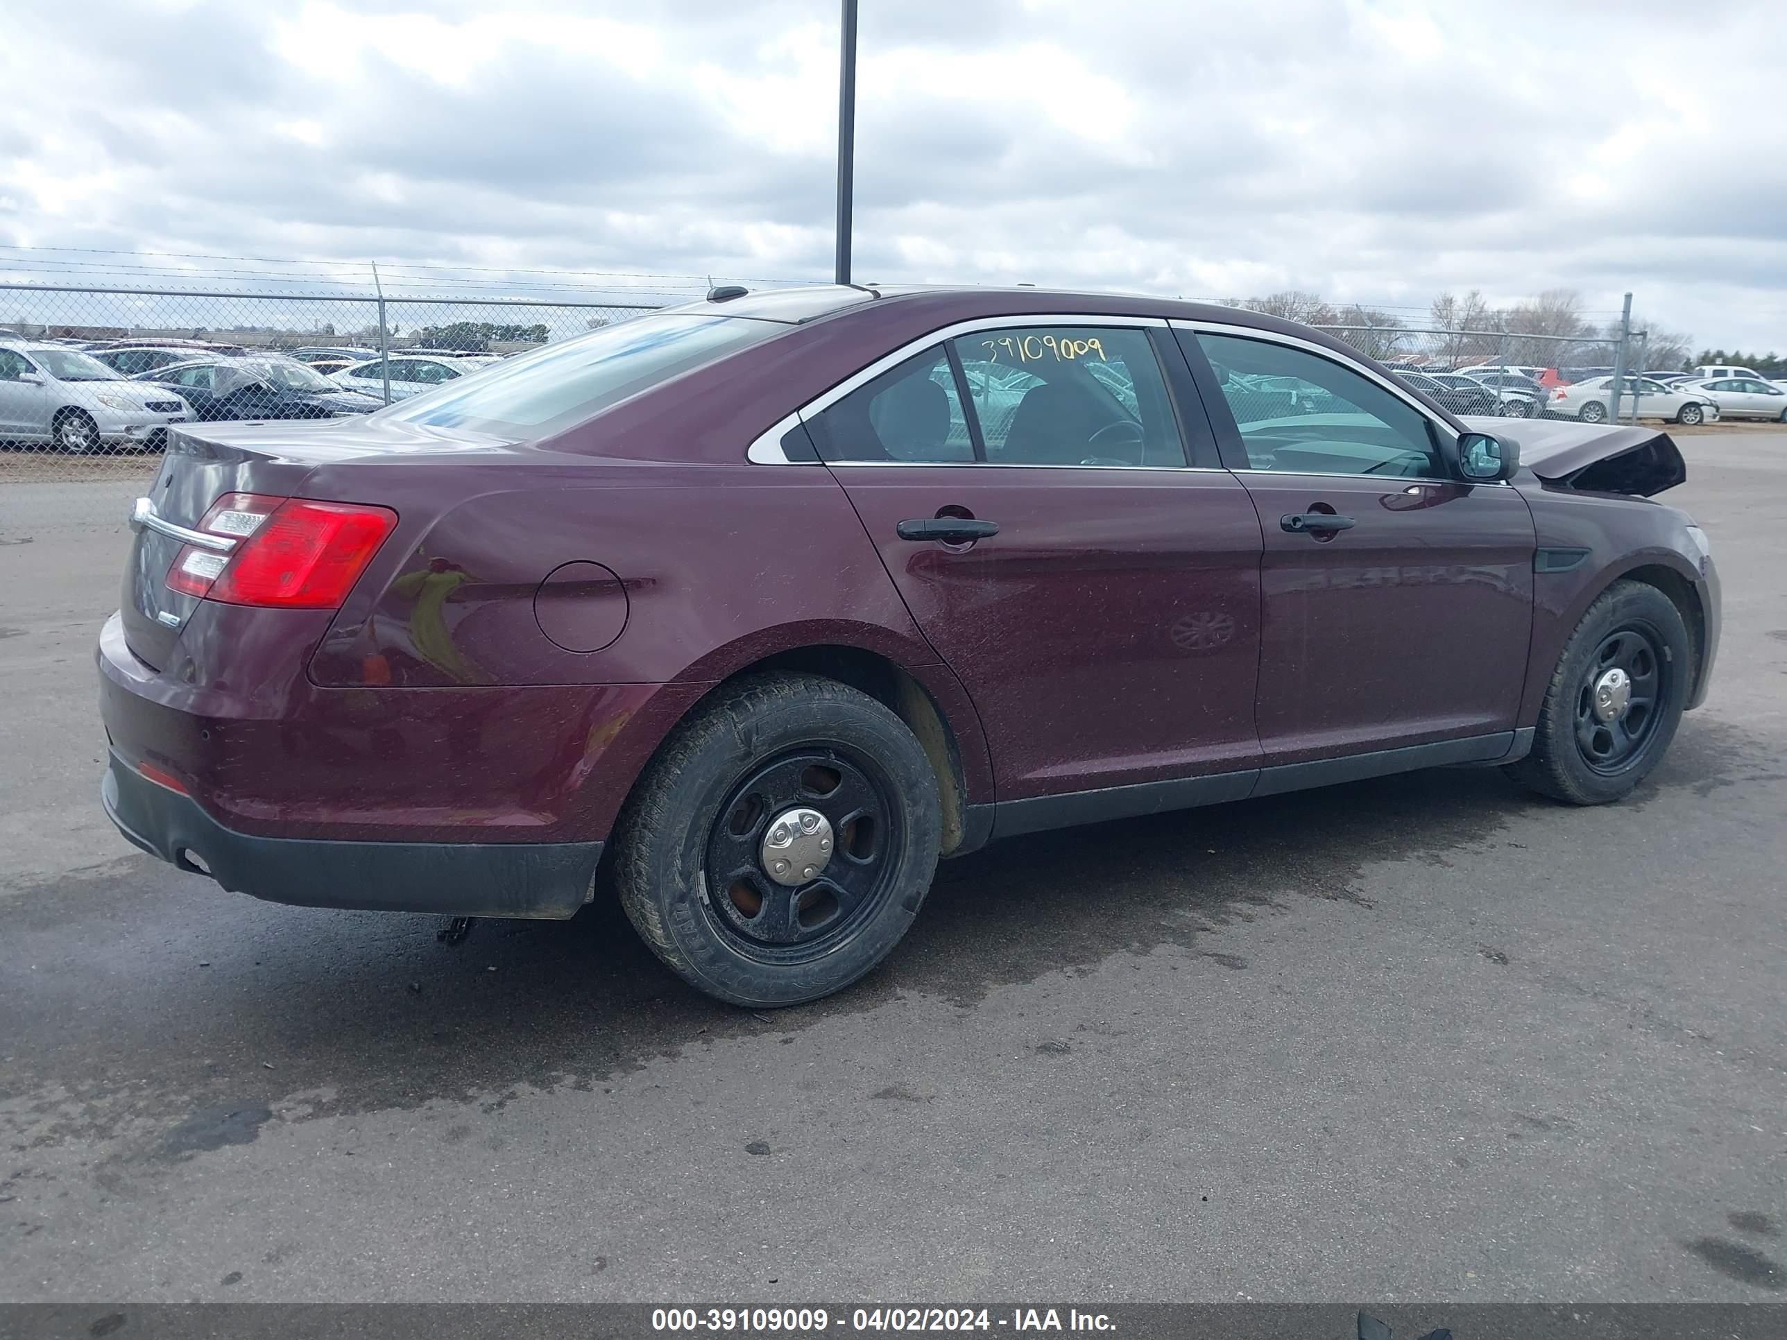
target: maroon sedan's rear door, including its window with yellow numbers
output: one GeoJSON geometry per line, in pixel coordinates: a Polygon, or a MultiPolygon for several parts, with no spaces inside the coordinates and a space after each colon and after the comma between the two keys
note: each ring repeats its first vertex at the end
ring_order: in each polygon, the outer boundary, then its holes
{"type": "Polygon", "coordinates": [[[1258,765],[1260,525],[1188,468],[1165,338],[977,329],[804,416],[972,695],[1001,804],[1258,765]]]}

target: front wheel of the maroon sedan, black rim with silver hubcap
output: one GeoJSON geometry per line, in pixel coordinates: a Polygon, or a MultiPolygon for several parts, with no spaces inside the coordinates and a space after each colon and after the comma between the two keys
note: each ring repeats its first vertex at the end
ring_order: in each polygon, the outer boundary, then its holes
{"type": "Polygon", "coordinates": [[[1674,740],[1692,677],[1694,647],[1674,602],[1644,582],[1614,582],[1583,613],[1551,672],[1531,752],[1505,772],[1553,800],[1619,800],[1674,740]],[[1624,695],[1612,672],[1626,677],[1624,695]]]}

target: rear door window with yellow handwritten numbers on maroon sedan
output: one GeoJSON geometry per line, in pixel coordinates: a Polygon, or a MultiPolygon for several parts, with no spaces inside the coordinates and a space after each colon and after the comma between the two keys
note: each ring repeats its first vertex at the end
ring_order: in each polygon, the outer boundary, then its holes
{"type": "Polygon", "coordinates": [[[988,463],[1185,465],[1147,331],[1013,325],[951,343],[988,463]]]}

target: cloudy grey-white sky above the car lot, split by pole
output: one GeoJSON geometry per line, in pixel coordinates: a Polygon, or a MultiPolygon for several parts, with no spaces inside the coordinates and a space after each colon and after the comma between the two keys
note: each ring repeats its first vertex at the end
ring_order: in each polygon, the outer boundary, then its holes
{"type": "MultiPolygon", "coordinates": [[[[13,279],[831,273],[835,0],[5,9],[13,279]]],[[[1698,9],[861,0],[856,277],[1632,289],[1787,348],[1787,4],[1698,9]]]]}

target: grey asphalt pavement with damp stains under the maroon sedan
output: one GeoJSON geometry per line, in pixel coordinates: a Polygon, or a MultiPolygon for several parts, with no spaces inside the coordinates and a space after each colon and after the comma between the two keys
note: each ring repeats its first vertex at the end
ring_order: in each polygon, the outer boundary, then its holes
{"type": "Polygon", "coordinates": [[[98,809],[134,488],[0,488],[0,1299],[1782,1301],[1787,434],[1683,436],[1708,704],[947,863],[754,1015],[593,906],[259,904],[98,809]]]}

